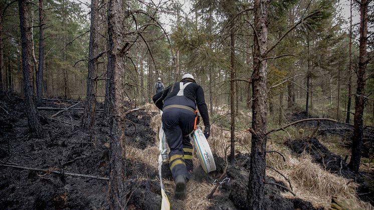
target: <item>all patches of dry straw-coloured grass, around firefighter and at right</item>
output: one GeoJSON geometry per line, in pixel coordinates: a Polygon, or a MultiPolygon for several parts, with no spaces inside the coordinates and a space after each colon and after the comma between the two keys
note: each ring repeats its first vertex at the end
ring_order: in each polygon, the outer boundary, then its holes
{"type": "MultiPolygon", "coordinates": [[[[152,104],[146,104],[146,111],[157,111],[157,108],[152,104]]],[[[145,164],[157,167],[158,159],[158,129],[160,126],[160,115],[157,114],[152,117],[150,126],[156,132],[156,142],[154,145],[147,147],[144,150],[133,148],[130,146],[126,147],[128,152],[128,158],[139,160],[145,164]]],[[[291,137],[297,137],[299,135],[298,130],[294,128],[287,129],[291,137]]],[[[305,135],[308,133],[306,132],[305,135]]],[[[243,131],[236,131],[237,152],[249,152],[251,144],[251,135],[243,131]]],[[[331,174],[323,170],[319,165],[311,162],[311,157],[307,154],[303,154],[300,157],[291,155],[287,147],[283,145],[285,139],[289,136],[286,132],[277,132],[272,134],[272,140],[269,141],[267,150],[276,150],[281,152],[286,161],[277,153],[267,154],[267,165],[274,167],[279,170],[282,174],[288,177],[291,181],[293,192],[296,193],[297,197],[309,201],[314,207],[324,207],[327,209],[330,206],[332,196],[338,197],[349,206],[349,209],[373,209],[369,203],[365,203],[357,198],[355,188],[357,184],[349,179],[331,174]]],[[[218,156],[225,157],[225,150],[227,154],[230,151],[230,131],[221,127],[212,125],[211,137],[208,139],[212,152],[218,156]]],[[[322,141],[325,143],[324,141],[322,141]]],[[[332,141],[328,148],[337,147],[338,140],[332,141]]],[[[332,150],[335,151],[335,150],[332,150]]],[[[336,151],[337,152],[337,151],[336,151]]],[[[345,152],[345,151],[344,151],[345,152]]],[[[338,153],[339,154],[339,153],[338,153]]],[[[194,163],[199,164],[199,159],[194,157],[194,163]]],[[[269,176],[274,177],[277,180],[283,181],[287,186],[288,182],[283,176],[278,174],[272,169],[266,169],[266,173],[269,176]]],[[[168,194],[168,198],[171,206],[178,206],[181,209],[206,209],[213,203],[205,199],[205,197],[212,190],[213,184],[211,183],[199,183],[191,180],[187,185],[187,197],[186,200],[180,201],[173,198],[174,182],[163,180],[165,191],[168,194]]],[[[217,190],[216,193],[221,193],[217,190]]],[[[281,193],[282,196],[287,198],[293,198],[294,196],[289,192],[281,193]]]]}

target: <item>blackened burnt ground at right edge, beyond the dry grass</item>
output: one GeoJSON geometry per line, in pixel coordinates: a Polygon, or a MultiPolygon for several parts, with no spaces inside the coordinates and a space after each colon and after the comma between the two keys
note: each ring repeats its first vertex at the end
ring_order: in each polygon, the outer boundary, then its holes
{"type": "MultiPolygon", "coordinates": [[[[291,121],[296,121],[305,118],[312,118],[312,116],[306,116],[305,112],[298,112],[290,117],[291,121]]],[[[350,141],[352,137],[353,127],[344,123],[335,123],[331,121],[321,121],[320,123],[315,121],[307,121],[298,124],[301,127],[317,127],[318,134],[328,138],[328,135],[338,135],[342,137],[342,144],[350,148],[350,141]],[[348,142],[347,142],[348,141],[348,142]]],[[[285,144],[295,154],[301,154],[307,152],[312,157],[313,162],[319,164],[322,168],[337,175],[345,178],[353,179],[360,184],[357,188],[357,194],[359,197],[374,204],[374,171],[360,171],[359,174],[355,174],[349,170],[345,160],[331,151],[329,151],[323,144],[321,144],[317,138],[304,138],[296,140],[287,140],[285,144]]],[[[374,133],[372,127],[366,127],[364,129],[364,143],[363,143],[362,157],[372,158],[374,151],[374,133]]]]}

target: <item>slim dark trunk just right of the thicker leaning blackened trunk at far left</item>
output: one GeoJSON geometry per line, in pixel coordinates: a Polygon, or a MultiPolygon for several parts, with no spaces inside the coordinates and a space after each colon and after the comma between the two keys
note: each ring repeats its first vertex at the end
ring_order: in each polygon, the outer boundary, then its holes
{"type": "Polygon", "coordinates": [[[39,67],[37,72],[37,104],[42,104],[43,70],[44,70],[44,38],[43,38],[43,0],[39,0],[39,67]]]}

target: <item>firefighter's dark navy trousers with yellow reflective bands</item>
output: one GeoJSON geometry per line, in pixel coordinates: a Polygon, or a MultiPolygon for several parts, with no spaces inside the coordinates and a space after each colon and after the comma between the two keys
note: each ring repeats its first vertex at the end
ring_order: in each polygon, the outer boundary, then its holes
{"type": "Polygon", "coordinates": [[[194,130],[194,112],[181,108],[168,108],[162,114],[162,125],[170,148],[169,164],[173,178],[184,175],[190,178],[193,170],[192,144],[188,136],[194,130]]]}

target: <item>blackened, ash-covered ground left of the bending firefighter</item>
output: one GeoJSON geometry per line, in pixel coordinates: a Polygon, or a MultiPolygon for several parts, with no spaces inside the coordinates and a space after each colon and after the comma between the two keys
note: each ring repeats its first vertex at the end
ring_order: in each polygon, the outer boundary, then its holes
{"type": "MultiPolygon", "coordinates": [[[[43,100],[42,107],[69,107],[73,101],[43,100]]],[[[28,128],[23,100],[0,96],[0,164],[18,165],[61,172],[109,176],[109,127],[97,112],[92,131],[80,125],[84,103],[48,119],[57,111],[39,110],[45,137],[34,138],[28,128]],[[72,125],[73,124],[73,125],[72,125]]],[[[97,104],[103,109],[103,104],[97,104]]],[[[127,116],[127,143],[144,149],[154,144],[149,127],[151,116],[142,111],[127,116]]],[[[159,209],[161,204],[157,169],[127,160],[129,209],[159,209]],[[147,177],[141,179],[139,176],[147,177]]],[[[52,174],[0,166],[1,209],[107,209],[107,180],[52,174]]]]}

